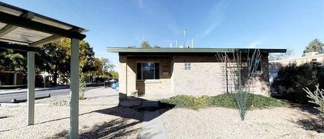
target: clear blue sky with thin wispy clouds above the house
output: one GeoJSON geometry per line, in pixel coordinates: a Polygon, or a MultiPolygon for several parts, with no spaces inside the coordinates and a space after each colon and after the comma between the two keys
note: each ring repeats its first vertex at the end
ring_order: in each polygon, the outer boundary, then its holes
{"type": "Polygon", "coordinates": [[[301,55],[324,41],[324,1],[259,0],[0,0],[86,28],[96,57],[118,65],[108,46],[169,47],[175,40],[204,48],[290,48],[301,55]]]}

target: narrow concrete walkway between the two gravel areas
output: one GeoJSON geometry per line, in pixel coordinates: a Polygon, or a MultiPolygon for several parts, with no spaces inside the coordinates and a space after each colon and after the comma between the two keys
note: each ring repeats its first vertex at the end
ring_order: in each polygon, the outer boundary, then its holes
{"type": "Polygon", "coordinates": [[[167,139],[159,111],[145,111],[141,139],[167,139]]]}

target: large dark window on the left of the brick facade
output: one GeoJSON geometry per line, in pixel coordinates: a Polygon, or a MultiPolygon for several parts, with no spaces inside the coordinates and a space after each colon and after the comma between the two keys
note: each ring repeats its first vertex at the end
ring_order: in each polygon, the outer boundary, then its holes
{"type": "Polygon", "coordinates": [[[160,63],[158,62],[140,62],[136,65],[137,80],[160,79],[160,63]]]}

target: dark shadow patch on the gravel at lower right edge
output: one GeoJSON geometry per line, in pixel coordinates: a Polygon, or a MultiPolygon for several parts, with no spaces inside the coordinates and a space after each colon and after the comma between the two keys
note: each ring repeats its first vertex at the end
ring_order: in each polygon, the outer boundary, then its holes
{"type": "Polygon", "coordinates": [[[295,124],[301,126],[301,128],[310,131],[316,131],[317,133],[324,133],[324,120],[320,118],[308,118],[292,120],[295,124]]]}

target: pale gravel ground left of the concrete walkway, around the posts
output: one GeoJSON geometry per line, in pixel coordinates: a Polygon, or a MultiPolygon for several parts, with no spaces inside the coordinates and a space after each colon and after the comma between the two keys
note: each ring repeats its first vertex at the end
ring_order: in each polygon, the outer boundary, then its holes
{"type": "MultiPolygon", "coordinates": [[[[79,101],[80,138],[140,138],[143,113],[117,106],[115,94],[101,89],[79,101]]],[[[35,105],[32,126],[26,126],[26,110],[26,105],[0,106],[0,138],[68,138],[69,106],[35,105]]]]}

